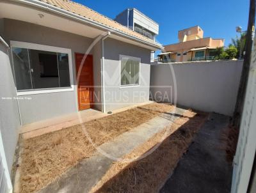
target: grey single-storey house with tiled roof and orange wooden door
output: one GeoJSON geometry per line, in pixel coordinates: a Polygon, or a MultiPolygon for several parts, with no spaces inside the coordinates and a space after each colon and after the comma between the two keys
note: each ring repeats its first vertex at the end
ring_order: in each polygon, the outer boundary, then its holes
{"type": "Polygon", "coordinates": [[[68,0],[1,0],[0,35],[10,47],[0,49],[1,97],[14,97],[0,101],[6,109],[0,126],[3,144],[10,144],[4,147],[9,171],[20,125],[148,101],[150,54],[163,49],[68,0]]]}

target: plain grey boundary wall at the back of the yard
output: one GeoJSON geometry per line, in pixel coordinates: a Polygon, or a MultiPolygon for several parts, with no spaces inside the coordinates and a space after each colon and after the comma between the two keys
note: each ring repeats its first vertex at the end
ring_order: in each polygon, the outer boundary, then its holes
{"type": "Polygon", "coordinates": [[[236,104],[242,67],[243,61],[152,65],[150,95],[155,100],[164,98],[163,101],[173,103],[177,94],[178,105],[231,116],[236,104]],[[177,91],[174,90],[175,81],[177,91]]]}

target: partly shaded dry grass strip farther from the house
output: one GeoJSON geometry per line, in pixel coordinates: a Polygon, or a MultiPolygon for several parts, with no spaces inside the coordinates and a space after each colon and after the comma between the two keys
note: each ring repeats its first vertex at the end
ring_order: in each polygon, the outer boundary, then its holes
{"type": "Polygon", "coordinates": [[[154,135],[124,158],[140,158],[160,144],[153,153],[132,163],[115,162],[91,192],[159,192],[206,118],[206,113],[186,111],[169,128],[154,135]],[[163,140],[166,132],[168,137],[163,140]]]}

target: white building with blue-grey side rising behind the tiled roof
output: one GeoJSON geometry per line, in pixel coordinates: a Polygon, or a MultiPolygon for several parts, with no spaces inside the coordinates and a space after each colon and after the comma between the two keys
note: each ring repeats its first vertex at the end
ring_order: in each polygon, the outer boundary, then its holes
{"type": "MultiPolygon", "coordinates": [[[[159,25],[135,8],[124,10],[114,20],[154,41],[159,33],[159,25]]],[[[151,61],[154,61],[154,51],[151,53],[151,61]]]]}

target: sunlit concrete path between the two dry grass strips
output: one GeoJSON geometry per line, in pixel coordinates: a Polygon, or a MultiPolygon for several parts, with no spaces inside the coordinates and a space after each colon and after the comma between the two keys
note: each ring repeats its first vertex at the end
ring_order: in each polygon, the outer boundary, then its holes
{"type": "MultiPolygon", "coordinates": [[[[115,140],[102,144],[99,148],[110,155],[110,157],[121,158],[140,144],[145,143],[145,141],[163,130],[166,126],[172,124],[173,120],[179,118],[184,111],[184,109],[177,108],[175,114],[161,114],[161,116],[141,124],[130,132],[119,135],[115,140]]],[[[52,182],[40,192],[89,192],[115,161],[113,158],[108,157],[98,152],[93,157],[86,158],[83,162],[77,164],[76,167],[63,174],[60,180],[52,182]]]]}

